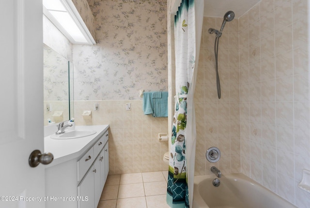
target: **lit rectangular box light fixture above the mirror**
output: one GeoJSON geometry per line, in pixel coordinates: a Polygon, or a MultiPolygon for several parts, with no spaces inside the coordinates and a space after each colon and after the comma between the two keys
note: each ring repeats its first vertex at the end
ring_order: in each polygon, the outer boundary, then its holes
{"type": "Polygon", "coordinates": [[[43,13],[72,44],[95,44],[72,0],[43,0],[43,13]]]}

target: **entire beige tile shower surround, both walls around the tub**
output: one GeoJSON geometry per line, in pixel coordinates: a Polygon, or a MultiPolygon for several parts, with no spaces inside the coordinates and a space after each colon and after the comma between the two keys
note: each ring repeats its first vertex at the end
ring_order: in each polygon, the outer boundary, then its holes
{"type": "Polygon", "coordinates": [[[310,169],[307,3],[262,0],[239,25],[234,19],[225,26],[218,100],[215,37],[207,30],[221,22],[213,17],[203,22],[195,175],[211,174],[214,164],[205,160],[205,150],[217,146],[222,158],[215,165],[223,173],[241,171],[296,206],[310,207],[310,194],[297,186],[302,169],[310,169]]]}

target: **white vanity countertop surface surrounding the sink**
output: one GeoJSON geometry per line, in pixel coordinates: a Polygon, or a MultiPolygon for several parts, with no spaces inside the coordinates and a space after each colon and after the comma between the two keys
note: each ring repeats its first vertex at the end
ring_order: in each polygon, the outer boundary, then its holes
{"type": "Polygon", "coordinates": [[[45,136],[44,152],[50,152],[54,155],[53,162],[46,165],[46,167],[54,166],[75,158],[78,159],[84,152],[92,147],[108,128],[109,125],[76,126],[76,129],[95,130],[96,134],[75,139],[52,139],[50,135],[45,136]]]}

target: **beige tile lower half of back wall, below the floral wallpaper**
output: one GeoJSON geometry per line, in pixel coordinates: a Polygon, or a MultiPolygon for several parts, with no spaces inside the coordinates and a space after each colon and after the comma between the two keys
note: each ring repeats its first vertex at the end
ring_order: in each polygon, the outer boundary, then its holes
{"type": "Polygon", "coordinates": [[[158,133],[168,133],[168,118],[144,115],[142,100],[75,101],[75,119],[76,125],[109,124],[109,174],[168,170],[163,162],[168,142],[158,140],[158,133]],[[84,110],[92,110],[92,119],[83,119],[84,110]]]}

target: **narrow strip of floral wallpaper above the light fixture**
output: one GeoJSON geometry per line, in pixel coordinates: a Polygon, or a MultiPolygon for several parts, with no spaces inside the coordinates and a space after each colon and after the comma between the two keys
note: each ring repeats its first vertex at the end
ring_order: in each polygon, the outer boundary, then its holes
{"type": "Polygon", "coordinates": [[[95,39],[95,20],[87,0],[72,0],[72,2],[76,6],[79,15],[81,15],[85,25],[95,39]]]}

